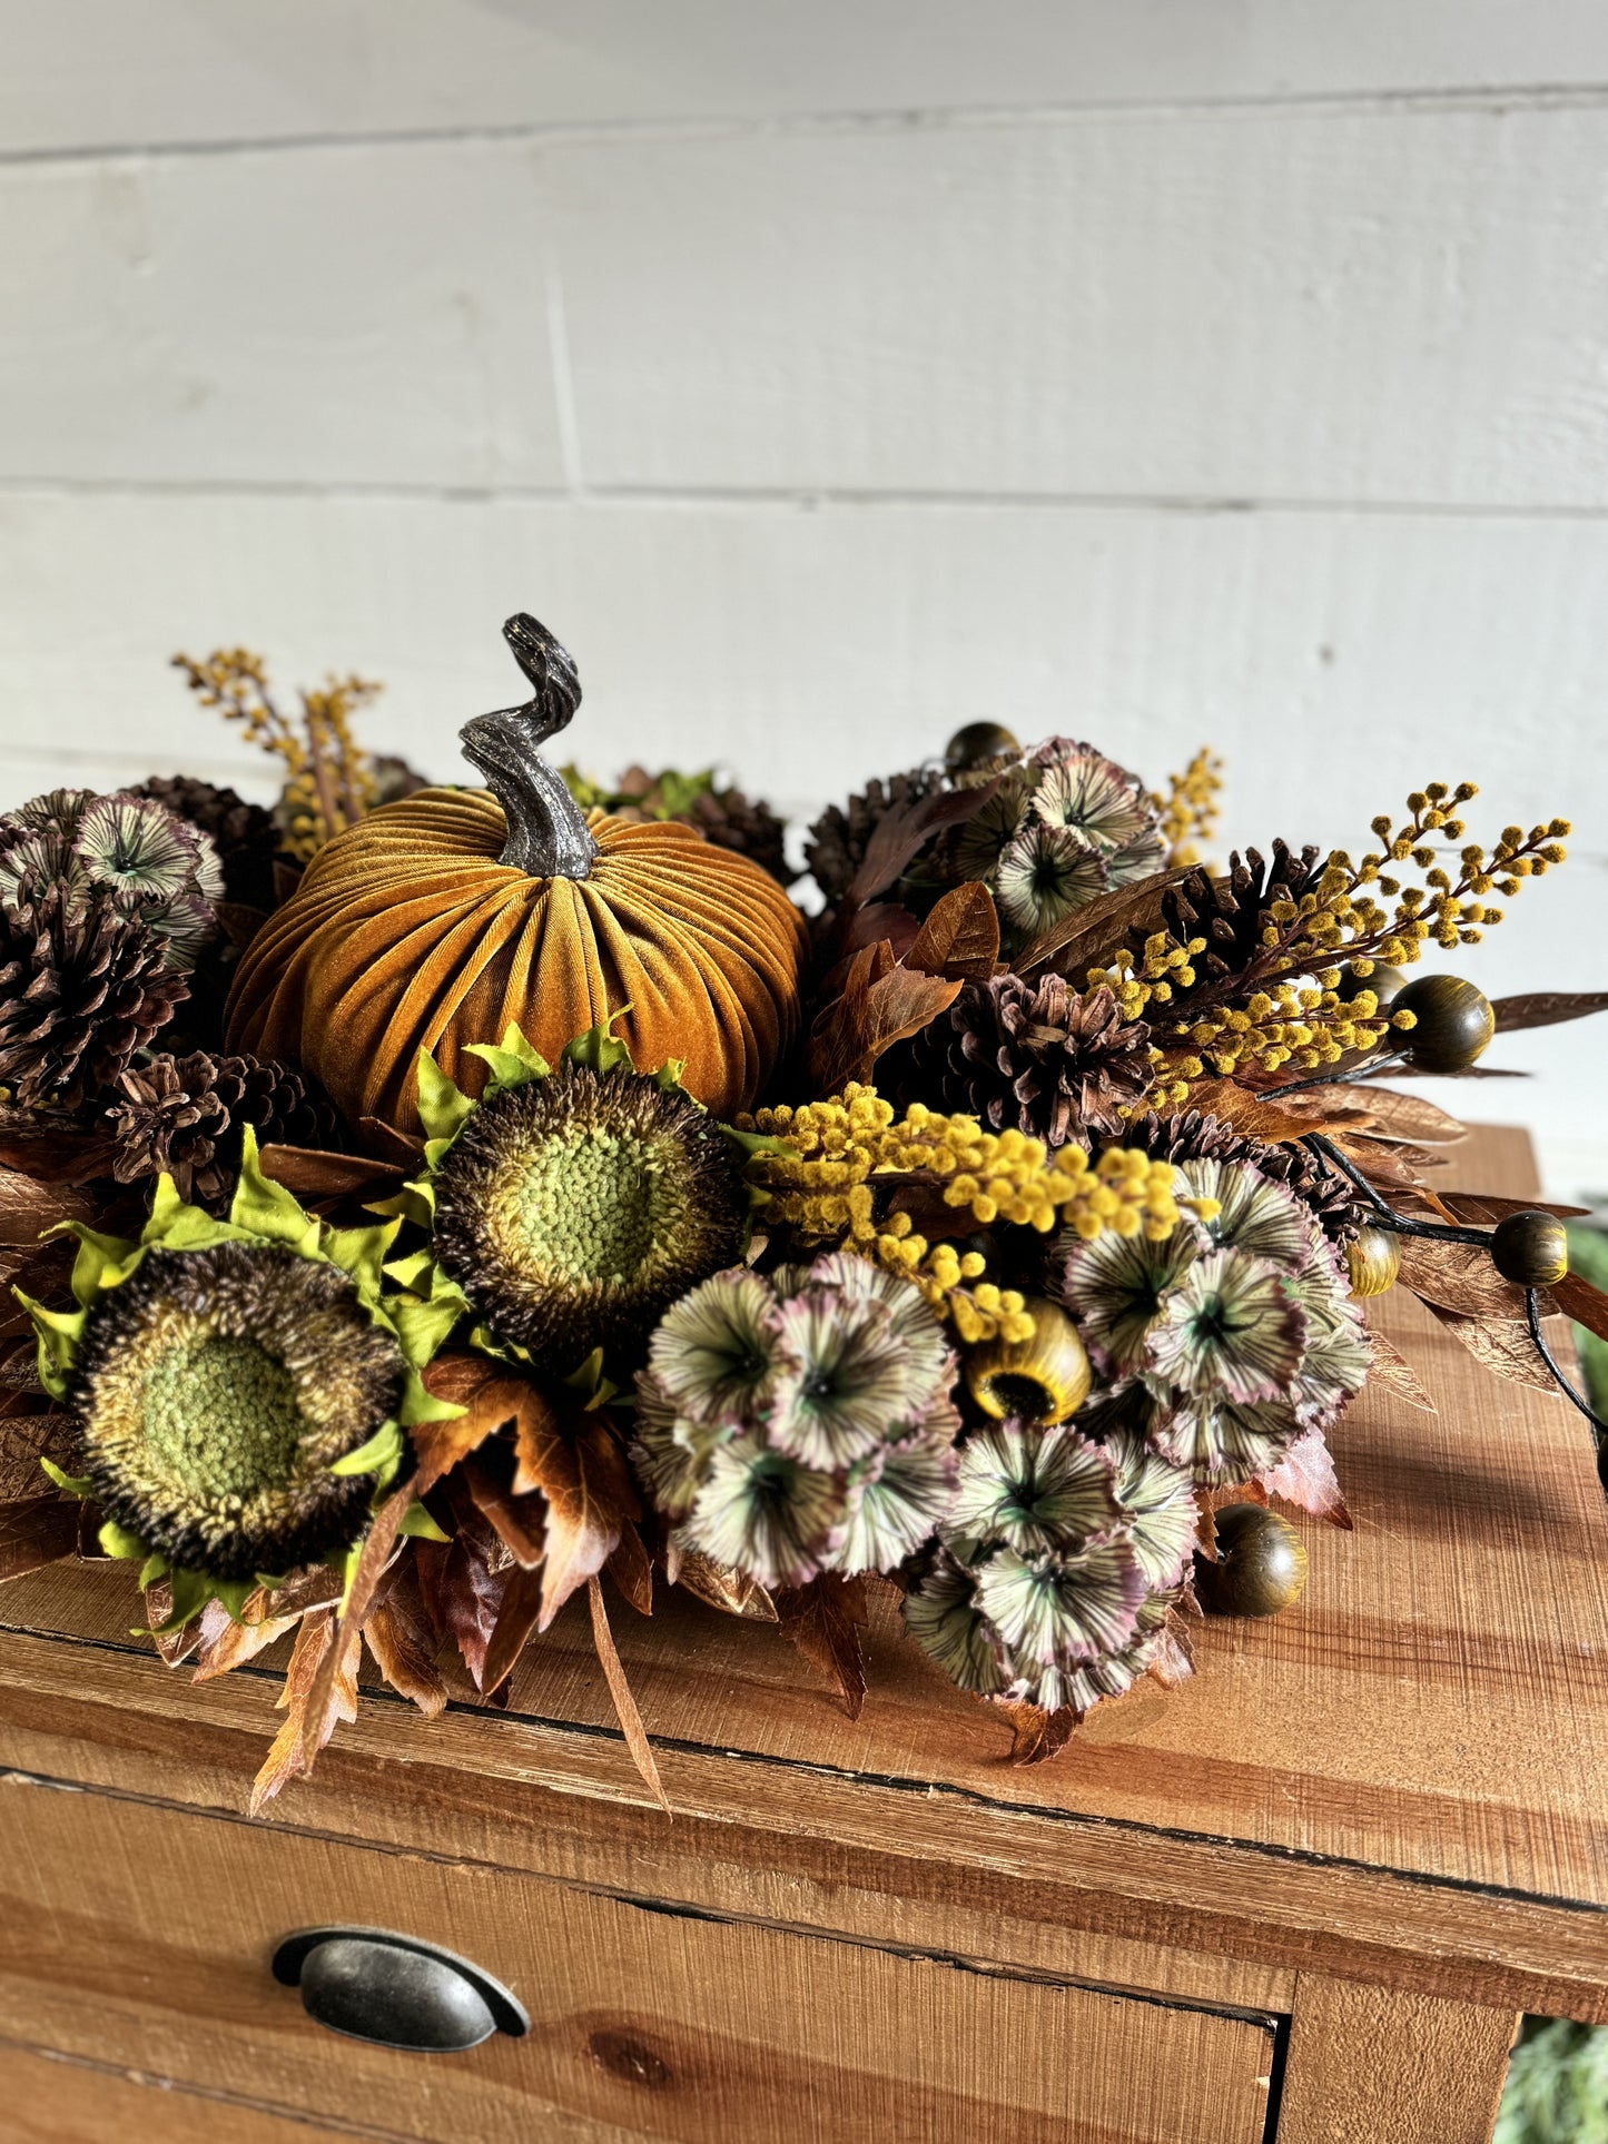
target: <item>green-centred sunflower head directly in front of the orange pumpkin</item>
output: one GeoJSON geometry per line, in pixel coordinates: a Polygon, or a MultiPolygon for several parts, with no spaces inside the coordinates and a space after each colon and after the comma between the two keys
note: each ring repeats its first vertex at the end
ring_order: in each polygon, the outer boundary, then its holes
{"type": "Polygon", "coordinates": [[[680,1085],[637,1072],[602,1027],[549,1068],[519,1029],[478,1046],[470,1102],[420,1063],[427,1173],[403,1211],[431,1250],[397,1276],[478,1321],[478,1338],[568,1370],[594,1349],[630,1364],[658,1319],[748,1241],[748,1147],[680,1085]]]}

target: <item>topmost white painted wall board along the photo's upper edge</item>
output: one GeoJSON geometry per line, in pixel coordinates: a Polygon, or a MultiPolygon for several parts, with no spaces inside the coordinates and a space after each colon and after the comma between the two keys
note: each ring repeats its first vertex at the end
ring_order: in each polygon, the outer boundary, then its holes
{"type": "Polygon", "coordinates": [[[1608,79],[1599,0],[4,0],[0,150],[1608,79]]]}

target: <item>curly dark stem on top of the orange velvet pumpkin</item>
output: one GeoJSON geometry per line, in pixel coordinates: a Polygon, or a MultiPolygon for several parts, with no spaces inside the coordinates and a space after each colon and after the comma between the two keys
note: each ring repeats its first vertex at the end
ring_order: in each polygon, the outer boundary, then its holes
{"type": "Polygon", "coordinates": [[[523,708],[476,714],[459,731],[463,757],[485,776],[508,819],[497,862],[532,879],[585,879],[598,845],[564,778],[540,755],[581,705],[575,658],[525,611],[510,617],[502,635],[534,695],[523,708]]]}

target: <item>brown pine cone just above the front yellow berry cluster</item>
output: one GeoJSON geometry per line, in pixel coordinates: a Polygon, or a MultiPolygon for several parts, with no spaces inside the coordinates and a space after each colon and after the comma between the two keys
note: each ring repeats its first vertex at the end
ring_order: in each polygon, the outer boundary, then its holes
{"type": "Polygon", "coordinates": [[[969,982],[896,1068],[905,1102],[965,1111],[991,1130],[1061,1147],[1123,1123],[1151,1085],[1149,1029],[1104,986],[1078,997],[1059,976],[969,982]]]}

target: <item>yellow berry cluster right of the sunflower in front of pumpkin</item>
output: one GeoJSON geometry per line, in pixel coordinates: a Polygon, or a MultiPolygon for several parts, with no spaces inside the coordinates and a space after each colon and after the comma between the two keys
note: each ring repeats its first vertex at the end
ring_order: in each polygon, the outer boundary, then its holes
{"type": "Polygon", "coordinates": [[[1085,1239],[1115,1229],[1160,1241],[1179,1220],[1168,1162],[1121,1147],[1098,1162],[1083,1147],[1051,1156],[1038,1138],[984,1132],[976,1117],[943,1117],[920,1102],[894,1119],[875,1087],[851,1083],[830,1102],[761,1108],[740,1123],[783,1141],[750,1162],[768,1220],[802,1244],[851,1244],[905,1274],[967,1342],[1027,1340],[1031,1312],[1014,1289],[982,1280],[980,1252],[930,1244],[909,1214],[877,1218],[873,1179],[928,1179],[943,1205],[965,1209],[984,1229],[1006,1222],[1044,1235],[1070,1224],[1085,1239]]]}

